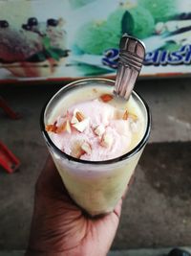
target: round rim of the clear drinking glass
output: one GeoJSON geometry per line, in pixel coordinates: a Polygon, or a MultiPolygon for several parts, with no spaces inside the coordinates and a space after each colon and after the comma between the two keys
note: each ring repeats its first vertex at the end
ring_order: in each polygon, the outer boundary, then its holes
{"type": "Polygon", "coordinates": [[[53,149],[53,151],[56,151],[56,153],[65,159],[68,159],[69,161],[73,161],[75,163],[81,163],[81,164],[91,164],[91,165],[107,165],[107,164],[114,164],[117,162],[121,162],[124,160],[129,159],[130,157],[132,157],[133,155],[135,155],[138,151],[140,151],[144,145],[146,144],[148,138],[149,138],[149,134],[150,134],[150,130],[151,130],[151,114],[150,114],[150,110],[149,110],[149,106],[147,105],[147,103],[145,102],[145,100],[138,94],[138,92],[136,92],[135,90],[132,91],[133,95],[135,95],[138,100],[142,103],[142,105],[145,106],[146,109],[146,114],[147,114],[147,124],[146,124],[146,129],[144,132],[144,135],[142,136],[142,139],[138,142],[138,145],[132,149],[131,151],[128,151],[116,158],[112,158],[112,159],[108,159],[108,160],[103,160],[103,161],[90,161],[90,160],[83,160],[83,159],[79,159],[79,158],[75,158],[74,156],[65,153],[64,151],[61,151],[60,149],[58,149],[55,144],[53,143],[51,137],[49,136],[49,133],[47,132],[46,128],[45,128],[45,122],[44,122],[44,117],[45,117],[45,112],[47,110],[47,106],[53,101],[53,99],[62,91],[62,90],[66,90],[66,89],[72,89],[74,88],[74,86],[77,83],[83,82],[83,81],[105,81],[105,82],[112,82],[115,83],[115,81],[110,80],[110,79],[104,79],[104,78],[87,78],[87,79],[81,79],[81,80],[76,80],[76,81],[72,81],[66,85],[64,85],[61,89],[59,89],[52,97],[51,99],[48,100],[48,102],[44,105],[44,107],[41,110],[41,114],[40,114],[40,128],[41,128],[41,132],[45,138],[46,143],[53,149]]]}

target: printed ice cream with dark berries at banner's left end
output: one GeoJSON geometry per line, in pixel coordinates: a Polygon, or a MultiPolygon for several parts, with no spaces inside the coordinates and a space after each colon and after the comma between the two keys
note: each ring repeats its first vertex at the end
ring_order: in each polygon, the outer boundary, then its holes
{"type": "Polygon", "coordinates": [[[68,56],[63,19],[39,22],[36,17],[15,29],[9,21],[0,20],[0,62],[20,77],[53,74],[60,60],[68,56]]]}

